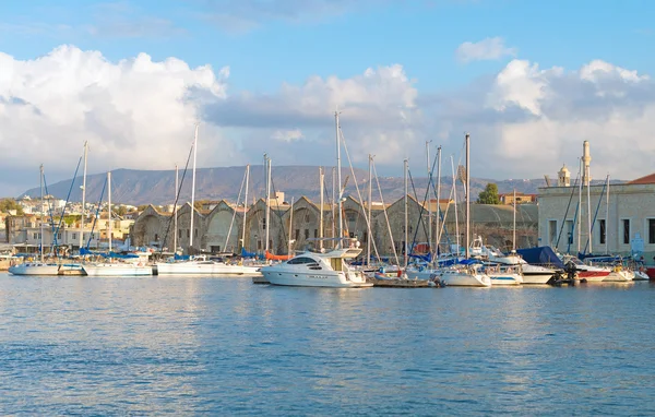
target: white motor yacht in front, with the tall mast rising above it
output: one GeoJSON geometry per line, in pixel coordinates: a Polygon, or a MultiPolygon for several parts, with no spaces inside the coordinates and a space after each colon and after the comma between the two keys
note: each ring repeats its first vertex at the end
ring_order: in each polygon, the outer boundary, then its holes
{"type": "MultiPolygon", "coordinates": [[[[286,262],[262,267],[264,278],[273,285],[299,287],[362,288],[372,287],[361,271],[348,265],[347,261],[361,253],[359,242],[344,238],[343,188],[341,187],[341,135],[338,111],[334,114],[336,124],[336,175],[338,176],[338,238],[330,251],[306,251],[286,262]]],[[[321,207],[322,208],[322,207],[321,207]]]]}

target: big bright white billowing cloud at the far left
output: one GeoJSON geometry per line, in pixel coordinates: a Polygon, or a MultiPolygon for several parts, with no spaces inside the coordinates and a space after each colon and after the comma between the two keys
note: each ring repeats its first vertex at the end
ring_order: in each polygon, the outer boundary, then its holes
{"type": "MultiPolygon", "coordinates": [[[[155,62],[145,53],[119,62],[98,51],[61,46],[34,60],[0,53],[0,153],[5,169],[43,162],[72,174],[84,141],[90,171],[170,168],[191,144],[200,120],[198,92],[221,100],[228,69],[195,69],[178,59],[155,62]]],[[[221,148],[201,163],[231,160],[231,142],[202,126],[199,148],[221,148]]],[[[201,153],[200,155],[207,155],[201,153]]],[[[70,174],[68,174],[70,176],[70,174]]]]}

